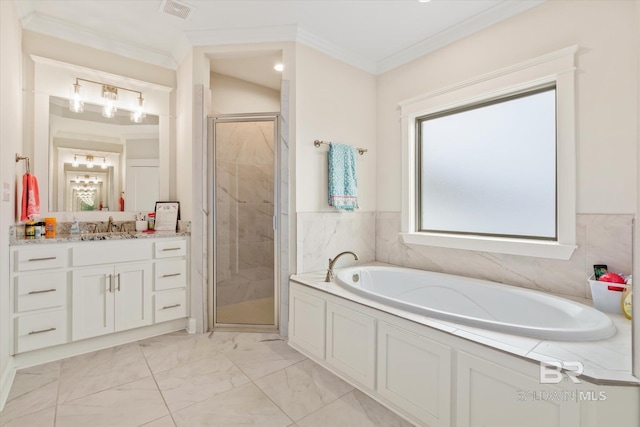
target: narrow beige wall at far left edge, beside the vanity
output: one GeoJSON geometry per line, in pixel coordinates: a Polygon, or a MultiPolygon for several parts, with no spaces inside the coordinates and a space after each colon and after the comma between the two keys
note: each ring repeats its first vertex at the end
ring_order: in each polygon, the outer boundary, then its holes
{"type": "Polygon", "coordinates": [[[15,219],[16,179],[24,173],[24,162],[15,163],[22,151],[22,27],[13,2],[0,1],[0,409],[9,392],[9,227],[15,219]],[[9,200],[2,200],[4,184],[9,200]]]}

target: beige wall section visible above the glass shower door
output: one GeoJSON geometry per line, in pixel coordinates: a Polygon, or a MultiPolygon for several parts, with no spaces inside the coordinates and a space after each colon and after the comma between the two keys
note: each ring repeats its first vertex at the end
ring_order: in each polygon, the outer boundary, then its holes
{"type": "Polygon", "coordinates": [[[280,111],[280,91],[211,73],[211,109],[220,114],[280,111]]]}

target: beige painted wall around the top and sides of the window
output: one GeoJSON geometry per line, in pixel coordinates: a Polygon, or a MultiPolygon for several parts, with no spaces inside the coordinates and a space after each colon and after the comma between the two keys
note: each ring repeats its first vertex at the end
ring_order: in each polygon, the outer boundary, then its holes
{"type": "Polygon", "coordinates": [[[378,211],[401,208],[398,102],[577,44],[577,212],[635,212],[636,2],[549,1],[378,78],[378,211]]]}

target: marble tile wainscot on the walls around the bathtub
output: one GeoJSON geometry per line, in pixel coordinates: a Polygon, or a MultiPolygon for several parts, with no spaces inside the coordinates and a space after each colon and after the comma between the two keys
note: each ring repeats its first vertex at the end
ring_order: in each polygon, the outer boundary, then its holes
{"type": "MultiPolygon", "coordinates": [[[[299,213],[298,273],[326,270],[344,250],[361,262],[475,277],[568,296],[591,298],[587,279],[594,264],[631,273],[633,215],[578,215],[578,248],[567,261],[405,245],[399,212],[299,213]]],[[[348,259],[346,262],[351,262],[348,259]]]]}

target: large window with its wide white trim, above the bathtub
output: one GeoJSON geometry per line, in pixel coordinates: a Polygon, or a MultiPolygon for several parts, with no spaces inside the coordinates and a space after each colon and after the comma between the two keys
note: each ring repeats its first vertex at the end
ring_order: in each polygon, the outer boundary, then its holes
{"type": "Polygon", "coordinates": [[[577,46],[400,103],[407,244],[569,259],[577,46]]]}

